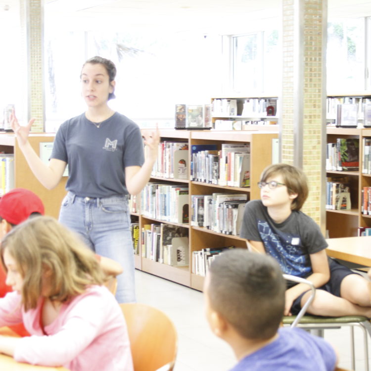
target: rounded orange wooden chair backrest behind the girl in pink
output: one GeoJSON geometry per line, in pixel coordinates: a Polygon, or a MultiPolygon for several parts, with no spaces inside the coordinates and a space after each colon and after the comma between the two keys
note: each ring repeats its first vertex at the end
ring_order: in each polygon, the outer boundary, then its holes
{"type": "Polygon", "coordinates": [[[146,304],[120,304],[128,326],[134,371],[173,370],[177,331],[169,317],[146,304]]]}

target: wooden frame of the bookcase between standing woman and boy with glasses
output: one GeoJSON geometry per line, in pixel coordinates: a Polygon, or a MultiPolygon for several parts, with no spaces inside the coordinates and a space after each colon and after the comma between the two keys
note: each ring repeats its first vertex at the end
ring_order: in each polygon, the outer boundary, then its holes
{"type": "MultiPolygon", "coordinates": [[[[249,143],[250,144],[250,187],[231,187],[196,182],[191,180],[175,180],[160,177],[152,177],[151,181],[161,180],[169,183],[181,183],[188,185],[189,188],[189,205],[190,197],[195,194],[212,194],[213,192],[224,193],[247,193],[248,199],[256,199],[260,197],[260,190],[257,183],[263,169],[272,162],[272,146],[269,144],[272,139],[278,138],[278,132],[269,131],[181,131],[164,129],[160,130],[161,140],[171,141],[186,141],[188,147],[195,144],[217,144],[218,149],[222,143],[249,143]]],[[[189,151],[190,152],[190,151],[189,151]]],[[[190,153],[188,153],[188,163],[190,163],[190,153]]],[[[138,206],[138,200],[137,200],[138,206]]],[[[140,210],[140,206],[138,206],[140,210]]],[[[190,207],[189,207],[190,212],[190,207]]],[[[140,212],[134,214],[134,218],[139,222],[139,231],[144,224],[165,223],[162,220],[155,220],[143,216],[140,212]]],[[[191,219],[191,218],[189,218],[191,219]]],[[[176,223],[169,223],[178,225],[176,223]]],[[[180,225],[180,224],[179,224],[180,225]]],[[[223,233],[213,232],[204,227],[191,226],[190,221],[181,226],[188,229],[189,237],[189,266],[173,267],[170,265],[155,262],[142,256],[141,252],[141,233],[139,237],[139,254],[136,256],[136,268],[144,272],[154,274],[156,276],[167,278],[185,286],[202,290],[202,276],[192,274],[192,252],[201,250],[207,247],[220,247],[234,245],[236,247],[246,247],[245,240],[238,236],[227,235],[223,233]]]]}

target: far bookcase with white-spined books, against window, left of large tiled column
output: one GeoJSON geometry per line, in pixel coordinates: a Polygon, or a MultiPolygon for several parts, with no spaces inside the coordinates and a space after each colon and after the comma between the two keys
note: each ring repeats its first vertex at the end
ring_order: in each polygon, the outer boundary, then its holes
{"type": "Polygon", "coordinates": [[[256,95],[256,96],[234,96],[234,97],[213,97],[211,98],[211,121],[212,127],[215,127],[217,120],[228,120],[228,121],[241,121],[243,122],[270,122],[270,124],[260,125],[246,125],[244,130],[253,131],[270,131],[278,132],[278,98],[275,95],[256,95]],[[230,102],[235,101],[236,106],[231,112],[230,102]],[[246,101],[253,102],[251,108],[244,110],[244,103],[246,101]],[[218,104],[216,104],[218,102],[218,104]],[[259,102],[264,102],[262,108],[259,102]],[[274,115],[267,115],[266,107],[273,106],[274,115]],[[234,113],[234,114],[231,114],[234,113]],[[273,124],[274,123],[274,124],[273,124]]]}

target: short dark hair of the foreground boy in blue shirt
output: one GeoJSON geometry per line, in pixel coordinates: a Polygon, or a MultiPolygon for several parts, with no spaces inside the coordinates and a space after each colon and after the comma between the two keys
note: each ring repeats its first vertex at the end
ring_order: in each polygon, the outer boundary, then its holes
{"type": "Polygon", "coordinates": [[[210,306],[247,339],[273,337],[282,321],[285,280],[270,256],[246,249],[223,252],[211,263],[210,306]]]}

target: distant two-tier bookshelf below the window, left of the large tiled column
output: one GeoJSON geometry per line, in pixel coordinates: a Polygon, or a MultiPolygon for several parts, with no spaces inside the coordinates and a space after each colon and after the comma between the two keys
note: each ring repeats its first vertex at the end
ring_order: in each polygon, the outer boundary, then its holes
{"type": "Polygon", "coordinates": [[[276,132],[278,131],[277,109],[278,98],[272,95],[213,97],[211,98],[212,128],[276,132]]]}

